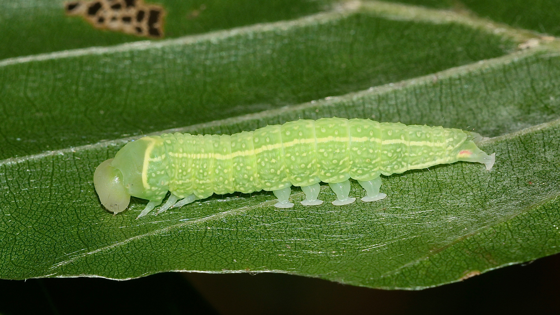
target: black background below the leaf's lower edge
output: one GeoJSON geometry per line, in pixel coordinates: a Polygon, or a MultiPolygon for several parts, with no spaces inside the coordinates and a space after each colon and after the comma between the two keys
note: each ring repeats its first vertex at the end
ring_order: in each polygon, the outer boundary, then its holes
{"type": "Polygon", "coordinates": [[[284,274],[0,280],[9,314],[560,314],[560,254],[421,291],[284,274]]]}

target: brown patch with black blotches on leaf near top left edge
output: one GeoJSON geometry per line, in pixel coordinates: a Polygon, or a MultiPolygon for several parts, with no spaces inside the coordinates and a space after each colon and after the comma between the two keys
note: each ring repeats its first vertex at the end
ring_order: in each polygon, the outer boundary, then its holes
{"type": "Polygon", "coordinates": [[[164,8],[143,0],[82,0],[67,2],[64,7],[68,15],[82,16],[97,29],[151,38],[164,36],[164,8]]]}

